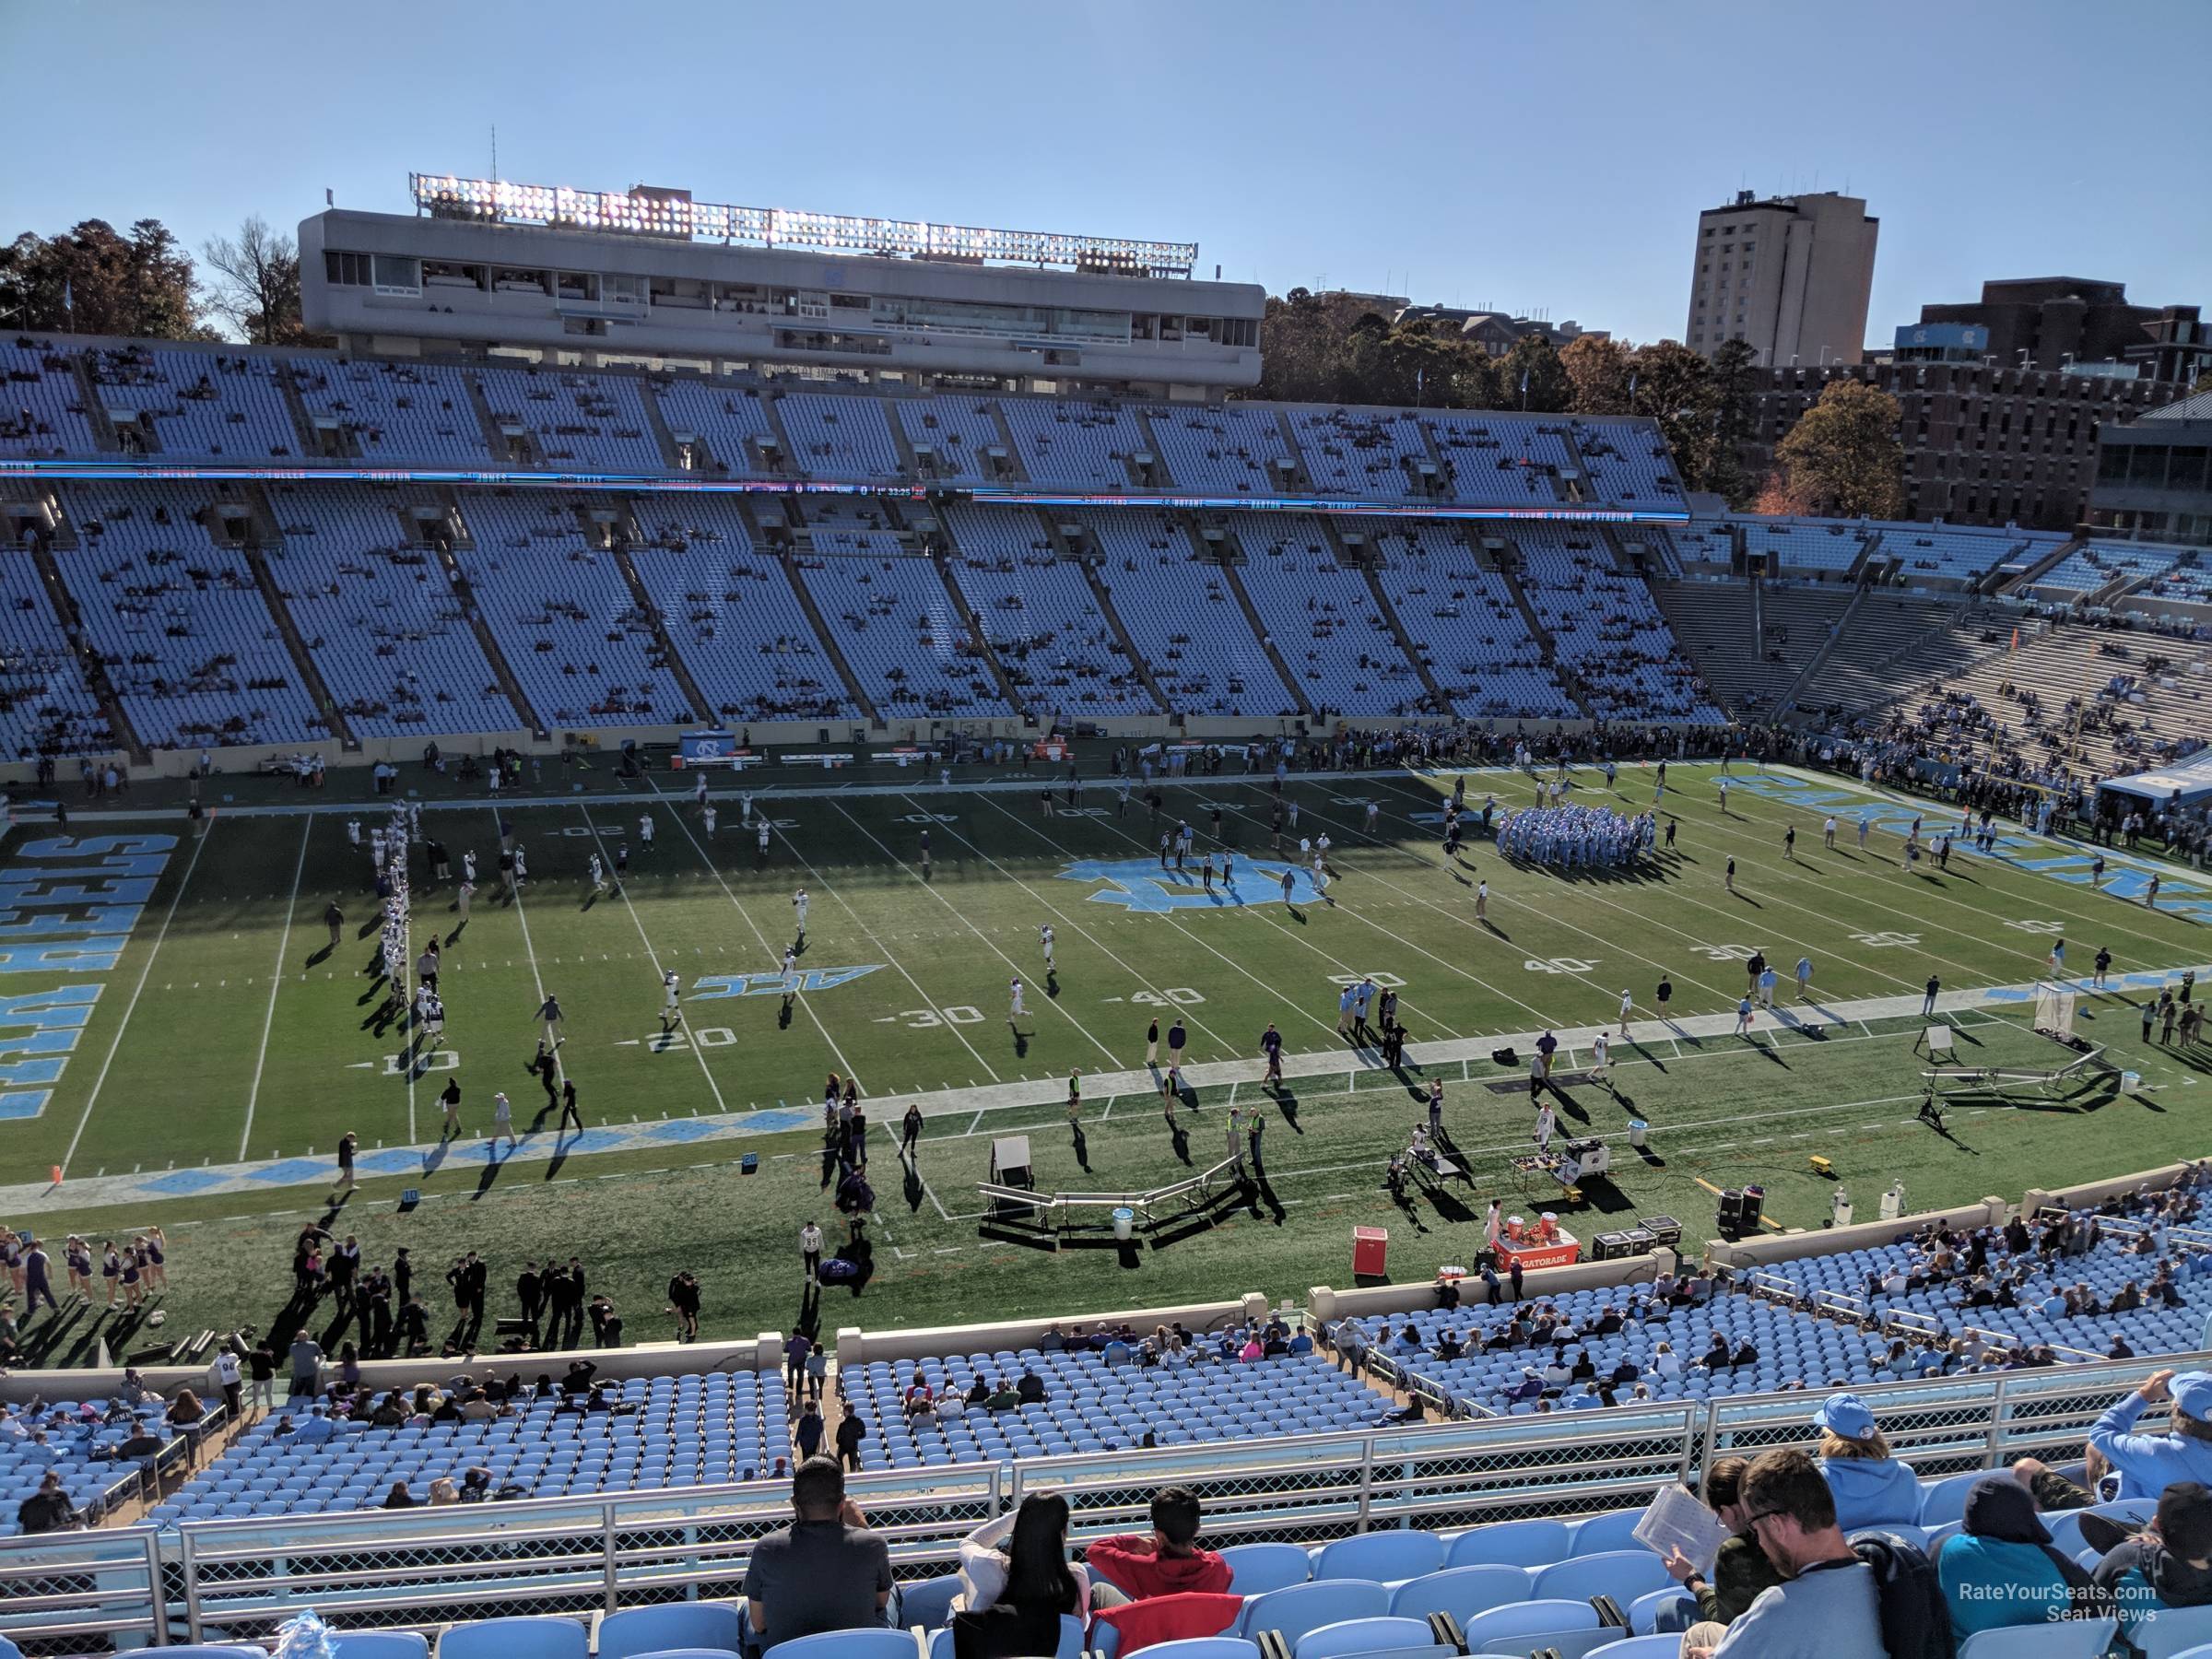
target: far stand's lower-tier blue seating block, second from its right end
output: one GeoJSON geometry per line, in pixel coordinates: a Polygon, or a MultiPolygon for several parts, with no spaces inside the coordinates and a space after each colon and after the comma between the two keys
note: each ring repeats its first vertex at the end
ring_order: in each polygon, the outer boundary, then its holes
{"type": "Polygon", "coordinates": [[[1582,714],[1544,666],[1506,580],[1458,529],[1413,524],[1383,531],[1376,544],[1383,595],[1453,710],[1469,719],[1582,714]]]}

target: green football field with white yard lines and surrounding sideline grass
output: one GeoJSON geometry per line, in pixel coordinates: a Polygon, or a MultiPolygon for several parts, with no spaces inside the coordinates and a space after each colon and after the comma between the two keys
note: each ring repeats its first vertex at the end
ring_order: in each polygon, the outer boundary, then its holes
{"type": "MultiPolygon", "coordinates": [[[[1646,768],[1626,768],[1617,796],[1595,770],[1577,783],[1577,799],[1624,812],[1652,801],[1646,768]]],[[[1478,1217],[1491,1194],[1515,1210],[1555,1203],[1524,1194],[1509,1166],[1526,1148],[1526,1079],[1484,1057],[1436,1062],[1447,1079],[1447,1126],[1473,1179],[1394,1206],[1383,1164],[1405,1146],[1429,1071],[1416,1064],[1398,1077],[1345,1053],[1338,982],[1360,973],[1400,980],[1416,1057],[1418,1044],[1447,1040],[1475,1040],[1471,1051],[1486,1055],[1500,1033],[1613,1020],[1624,987],[1646,1020],[1661,973],[1677,987],[1677,1018],[1728,1011],[1743,989],[1741,958],[1754,947],[1783,967],[1785,995],[1787,967],[1807,953],[1823,1004],[1913,1002],[1829,1024],[1825,1035],[1763,1029],[1754,1042],[1659,1037],[1621,1048],[1617,1095],[1568,1082],[1562,1128],[1588,1124],[1617,1150],[1615,1183],[1595,1186],[1586,1212],[1566,1214],[1568,1225],[1588,1234],[1619,1225],[1613,1217],[1666,1210],[1688,1223],[1690,1239],[1705,1239],[1712,1199],[1694,1177],[1765,1181],[1770,1214],[1818,1225],[1829,1186],[1807,1172],[1807,1152],[1832,1157],[1860,1214],[1871,1214],[1891,1179],[1905,1179],[1916,1206],[1933,1206],[1984,1192],[2017,1197],[2037,1183],[2205,1150],[2190,1121],[2199,1071],[2139,1046],[2132,1006],[2121,1006],[2132,995],[2086,998],[2081,1029],[2112,1042],[2154,1088],[2121,1095],[2099,1084],[2057,1108],[1962,1110],[1951,1137],[1916,1126],[1920,1062],[1911,1042],[1922,1022],[1913,1009],[1929,973],[1951,989],[2024,984],[2044,971],[2055,929],[2070,942],[2075,973],[2088,971],[2099,945],[2112,951],[2115,973],[2179,971],[2205,958],[2201,925],[1971,852],[1953,856],[1947,874],[1907,874],[1898,834],[1882,825],[1860,852],[1845,821],[1838,849],[1827,852],[1820,810],[1776,799],[1796,787],[1781,776],[1739,776],[1723,814],[1710,768],[1672,768],[1666,810],[1681,823],[1677,849],[1641,876],[1515,867],[1486,841],[1469,843],[1460,865],[1449,865],[1431,823],[1416,816],[1438,812],[1449,781],[1301,781],[1290,787],[1301,810],[1296,832],[1332,836],[1334,905],[1281,902],[1263,869],[1263,781],[1221,776],[1166,790],[1168,814],[1188,816],[1201,845],[1212,841],[1212,807],[1221,807],[1241,902],[1208,898],[1194,883],[1150,887],[1144,876],[1157,874],[1157,832],[1141,803],[1121,816],[1113,790],[1091,783],[1079,814],[1044,816],[1040,785],[1042,776],[1002,792],[841,792],[816,776],[812,787],[763,796],[776,834],[765,867],[757,867],[732,787],[717,787],[719,830],[710,838],[681,783],[657,792],[602,772],[560,805],[500,807],[529,856],[520,896],[502,891],[495,874],[493,805],[434,799],[425,832],[447,843],[456,865],[462,849],[476,849],[480,891],[460,927],[449,887],[416,889],[418,947],[422,929],[449,936],[442,989],[451,1060],[434,1057],[431,1068],[405,1064],[405,1035],[374,1024],[383,995],[365,971],[374,953],[369,869],[365,852],[347,843],[341,803],[265,816],[217,812],[201,836],[175,816],[77,814],[73,834],[173,834],[177,845],[111,971],[13,973],[0,989],[22,995],[100,984],[42,1113],[0,1119],[0,1188],[9,1194],[0,1217],[46,1239],[126,1234],[159,1221],[173,1245],[173,1323],[197,1329],[248,1318],[268,1327],[288,1292],[290,1239],[301,1219],[327,1214],[332,1148],[352,1128],[369,1177],[334,1225],[356,1232],[369,1261],[407,1243],[418,1276],[438,1290],[447,1256],[480,1248],[493,1261],[498,1307],[511,1298],[500,1287],[511,1287],[522,1256],[580,1254],[593,1287],[622,1305],[633,1340],[668,1332],[661,1285],[688,1265],[706,1285],[708,1334],[750,1336],[799,1316],[794,1232],[807,1214],[834,1221],[812,1128],[821,1084],[834,1071],[856,1075],[869,1099],[927,1091],[929,1126],[918,1177],[900,1179],[891,1159],[898,1113],[878,1113],[874,1276],[856,1301],[830,1294],[818,1314],[825,1327],[1082,1314],[1245,1290],[1294,1296],[1349,1281],[1354,1223],[1391,1228],[1396,1279],[1427,1276],[1480,1248],[1478,1217]],[[1367,801],[1380,807],[1371,838],[1367,801]],[[644,816],[657,830],[650,852],[644,816]],[[1796,860],[1781,847],[1790,823],[1796,860]],[[933,843],[927,880],[916,863],[925,827],[933,843]],[[628,883],[591,894],[588,856],[599,849],[611,863],[622,838],[628,883]],[[1721,883],[1730,856],[1739,863],[1734,894],[1721,883]],[[1478,878],[1489,880],[1489,922],[1473,916],[1478,878]],[[816,989],[790,1011],[774,993],[699,995],[717,989],[714,975],[728,987],[774,973],[794,936],[799,885],[812,896],[801,964],[816,989]],[[327,949],[323,927],[332,898],[349,916],[336,949],[327,949]],[[1051,982],[1037,940],[1044,922],[1057,931],[1051,982]],[[690,1037],[677,1044],[655,1040],[664,967],[686,982],[690,1037]],[[1006,1015],[1013,975],[1029,987],[1020,1022],[1006,1015]],[[542,1093],[524,1075],[538,1035],[531,1015],[546,991],[568,1015],[562,1060],[597,1133],[557,1150],[551,1119],[533,1126],[542,1093]],[[1241,1082],[1234,1095],[1270,1121],[1259,1194],[1208,1217],[1212,1225],[1126,1254],[1048,1254],[980,1237],[973,1181],[993,1135],[1029,1133],[1046,1188],[1152,1188],[1221,1157],[1225,1086],[1199,1091],[1181,1115],[1181,1141],[1150,1093],[1113,1095],[1097,1084],[1086,1088],[1084,1135],[1068,1130],[1060,1079],[1071,1068],[1141,1071],[1155,1013],[1181,1013],[1186,1060],[1197,1066],[1250,1060],[1261,1029],[1270,1020],[1281,1026],[1290,1088],[1279,1099],[1241,1082]],[[1345,1057],[1314,1068],[1321,1053],[1345,1057]],[[436,1093],[449,1075],[465,1088],[467,1135],[425,1168],[398,1148],[436,1146],[436,1093]],[[1037,1084],[1026,1099],[1024,1091],[971,1093],[1022,1079],[1037,1084]],[[484,1141],[495,1088],[511,1093],[518,1128],[529,1133],[529,1155],[513,1164],[491,1159],[484,1141]],[[770,1117],[741,1135],[710,1133],[748,1110],[770,1117]],[[1619,1133],[1630,1115],[1652,1124],[1650,1161],[1619,1133]],[[650,1130],[650,1144],[630,1130],[650,1130]],[[619,1150],[599,1150],[615,1141],[619,1150]],[[376,1172],[378,1152],[389,1172],[376,1172]],[[741,1152],[761,1155],[759,1175],[739,1175],[741,1152]],[[268,1159],[279,1159],[279,1170],[250,1190],[192,1190],[195,1172],[268,1159]],[[53,1164],[66,1164],[60,1194],[44,1183],[53,1164]],[[420,1203],[400,1210],[400,1188],[418,1188],[420,1203]],[[11,1199],[22,1208],[11,1210],[11,1199]]],[[[1473,803],[1491,790],[1504,805],[1526,805],[1533,794],[1520,774],[1469,781],[1473,803]]],[[[263,799],[246,785],[237,794],[239,805],[263,799]]],[[[265,792],[272,807],[301,801],[292,790],[265,792]]],[[[1882,812],[1902,821],[1913,807],[1882,812]]],[[[51,836],[49,825],[13,830],[0,867],[20,878],[29,843],[51,836]]],[[[2170,896],[2188,885],[2177,874],[2168,872],[2170,896]]],[[[752,984],[770,989],[768,980],[752,984]]],[[[1973,1060],[2020,1064],[2055,1053],[2024,1029],[2022,1013],[1964,1015],[1962,1048],[1973,1060]]],[[[438,1310],[438,1296],[427,1301],[438,1310]]],[[[44,1338],[44,1358],[82,1358],[95,1336],[124,1347],[135,1332],[75,1312],[44,1338]]]]}

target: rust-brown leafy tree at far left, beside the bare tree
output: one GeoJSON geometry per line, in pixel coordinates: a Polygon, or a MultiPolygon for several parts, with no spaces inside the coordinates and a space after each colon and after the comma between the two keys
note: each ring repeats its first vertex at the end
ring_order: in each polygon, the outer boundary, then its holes
{"type": "Polygon", "coordinates": [[[86,219],[58,237],[31,230],[0,250],[0,325],[148,341],[212,338],[199,321],[192,257],[159,219],[117,234],[86,219]]]}

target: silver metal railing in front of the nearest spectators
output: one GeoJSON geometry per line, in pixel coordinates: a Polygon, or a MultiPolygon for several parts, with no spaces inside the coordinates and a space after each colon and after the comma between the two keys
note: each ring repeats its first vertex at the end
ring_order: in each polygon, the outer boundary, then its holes
{"type": "MultiPolygon", "coordinates": [[[[1922,1475],[2064,1462],[2159,1365],[1993,1371],[1863,1385],[1922,1475]]],[[[1380,1405],[1380,1402],[1378,1402],[1380,1405]]],[[[1033,1458],[854,1475],[854,1500],[905,1579],[947,1573],[958,1542],[1026,1493],[1055,1491],[1077,1537],[1141,1524],[1183,1484],[1219,1544],[1451,1528],[1632,1506],[1719,1453],[1814,1438],[1803,1391],[1334,1436],[1033,1458]]],[[[790,1520],[781,1482],[542,1498],[352,1515],[265,1515],[0,1540],[0,1635],[42,1655],[170,1639],[268,1637],[316,1608],[345,1628],[436,1628],[489,1613],[611,1613],[730,1597],[752,1544],[790,1520]],[[80,1639],[84,1639],[80,1644],[80,1639]]]]}

